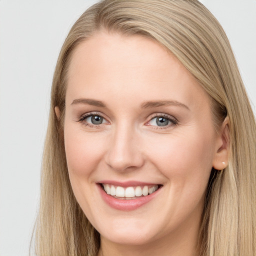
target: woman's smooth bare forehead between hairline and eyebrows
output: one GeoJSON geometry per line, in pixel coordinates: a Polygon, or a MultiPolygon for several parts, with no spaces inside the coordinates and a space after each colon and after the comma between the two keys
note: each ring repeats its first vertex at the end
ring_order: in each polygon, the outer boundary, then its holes
{"type": "Polygon", "coordinates": [[[172,98],[188,104],[197,104],[200,96],[208,100],[194,77],[159,43],[141,35],[106,31],[76,47],[68,71],[67,101],[95,95],[100,100],[107,96],[139,101],[172,98]]]}

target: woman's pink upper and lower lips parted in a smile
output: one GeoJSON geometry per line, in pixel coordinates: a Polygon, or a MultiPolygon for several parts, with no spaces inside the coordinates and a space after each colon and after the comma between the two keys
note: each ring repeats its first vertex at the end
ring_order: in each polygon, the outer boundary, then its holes
{"type": "MultiPolygon", "coordinates": [[[[100,182],[101,183],[101,182],[100,182]]],[[[160,186],[155,192],[148,194],[146,196],[142,196],[142,197],[138,197],[136,199],[118,199],[115,198],[109,194],[107,194],[104,189],[102,188],[101,184],[97,183],[97,187],[99,189],[99,193],[101,195],[101,197],[103,198],[103,200],[112,208],[117,209],[117,210],[122,210],[122,211],[130,211],[130,210],[135,210],[139,207],[141,207],[142,205],[148,203],[149,201],[151,201],[155,196],[157,196],[157,194],[159,193],[159,191],[161,190],[160,186]]],[[[135,186],[135,185],[155,185],[154,183],[143,183],[143,182],[137,182],[137,181],[127,181],[127,182],[113,182],[110,180],[105,180],[104,182],[102,181],[102,183],[104,184],[113,184],[113,185],[119,185],[119,186],[123,186],[123,187],[127,187],[127,186],[135,186]]]]}

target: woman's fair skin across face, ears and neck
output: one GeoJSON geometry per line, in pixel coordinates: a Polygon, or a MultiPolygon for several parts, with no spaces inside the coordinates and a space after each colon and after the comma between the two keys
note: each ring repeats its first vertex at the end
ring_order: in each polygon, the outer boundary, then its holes
{"type": "Polygon", "coordinates": [[[227,162],[227,121],[216,132],[209,97],[193,76],[153,40],[99,31],[73,53],[65,102],[70,182],[101,235],[98,255],[197,255],[209,174],[227,162]],[[172,103],[145,107],[166,100],[172,103]],[[86,113],[103,122],[81,120],[86,113]],[[167,125],[158,126],[156,115],[167,125]],[[122,211],[102,199],[96,183],[104,179],[163,186],[148,203],[122,211]]]}

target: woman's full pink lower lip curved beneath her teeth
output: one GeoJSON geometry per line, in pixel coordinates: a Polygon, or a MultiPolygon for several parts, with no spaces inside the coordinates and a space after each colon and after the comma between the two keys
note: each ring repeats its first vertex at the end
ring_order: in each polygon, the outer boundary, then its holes
{"type": "Polygon", "coordinates": [[[140,206],[148,203],[151,201],[158,193],[161,187],[159,187],[155,192],[148,194],[146,196],[142,196],[136,199],[117,199],[109,194],[107,194],[100,184],[97,184],[99,188],[99,192],[103,198],[103,200],[112,208],[117,210],[135,210],[139,208],[140,206]]]}

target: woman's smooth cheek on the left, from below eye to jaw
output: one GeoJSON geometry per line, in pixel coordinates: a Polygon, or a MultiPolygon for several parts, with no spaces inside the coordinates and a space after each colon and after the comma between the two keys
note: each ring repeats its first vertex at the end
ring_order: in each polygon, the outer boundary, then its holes
{"type": "Polygon", "coordinates": [[[95,185],[93,173],[101,162],[105,139],[99,133],[85,133],[77,126],[67,123],[64,127],[68,175],[78,204],[86,216],[93,219],[90,206],[97,200],[95,194],[91,194],[95,185]]]}

